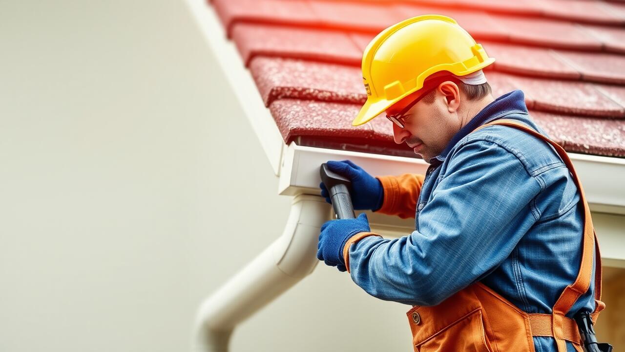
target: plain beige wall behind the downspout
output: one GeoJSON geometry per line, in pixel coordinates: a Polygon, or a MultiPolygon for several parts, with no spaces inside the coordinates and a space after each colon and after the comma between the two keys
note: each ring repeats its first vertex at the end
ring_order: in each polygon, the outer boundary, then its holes
{"type": "MultiPolygon", "coordinates": [[[[186,351],[291,201],[186,5],[2,1],[0,43],[0,351],[186,351]]],[[[406,310],[318,266],[232,351],[409,351],[406,310]]]]}

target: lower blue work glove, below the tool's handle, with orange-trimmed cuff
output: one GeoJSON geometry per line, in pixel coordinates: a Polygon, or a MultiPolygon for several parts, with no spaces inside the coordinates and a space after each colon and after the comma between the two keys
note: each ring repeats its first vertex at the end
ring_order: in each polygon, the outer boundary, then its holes
{"type": "Polygon", "coordinates": [[[321,226],[317,259],[326,265],[336,266],[339,271],[346,271],[343,260],[343,248],[352,236],[360,232],[371,232],[367,215],[362,213],[356,219],[329,220],[321,226]]]}

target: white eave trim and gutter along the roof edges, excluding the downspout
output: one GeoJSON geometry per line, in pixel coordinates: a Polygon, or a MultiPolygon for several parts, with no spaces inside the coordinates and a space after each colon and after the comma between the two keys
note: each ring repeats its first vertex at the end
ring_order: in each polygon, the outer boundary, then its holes
{"type": "MultiPolygon", "coordinates": [[[[186,1],[212,53],[216,54],[233,94],[254,128],[269,163],[280,177],[279,194],[318,195],[319,165],[327,160],[349,158],[374,175],[425,172],[427,163],[416,158],[303,147],[296,143],[286,145],[236,46],[227,40],[214,9],[207,6],[204,0],[186,1]]],[[[625,186],[622,184],[625,180],[625,159],[577,153],[569,153],[569,157],[584,185],[591,210],[617,215],[609,218],[609,224],[602,225],[595,220],[595,225],[604,247],[602,256],[609,261],[606,264],[625,267],[625,251],[622,251],[625,248],[625,236],[622,236],[625,225],[625,216],[622,216],[625,215],[625,186]],[[605,247],[606,242],[610,248],[605,247]]],[[[387,232],[383,233],[391,236],[405,234],[408,227],[414,229],[414,220],[397,220],[375,214],[371,220],[372,227],[386,229],[387,232]]]]}

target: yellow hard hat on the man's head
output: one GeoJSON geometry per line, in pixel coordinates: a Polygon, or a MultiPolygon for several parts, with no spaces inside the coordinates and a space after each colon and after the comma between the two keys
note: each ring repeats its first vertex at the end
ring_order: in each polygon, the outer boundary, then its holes
{"type": "Polygon", "coordinates": [[[352,125],[369,122],[422,88],[429,75],[469,75],[491,65],[482,48],[456,21],[437,14],[406,19],[384,29],[364,49],[362,81],[367,101],[352,125]]]}

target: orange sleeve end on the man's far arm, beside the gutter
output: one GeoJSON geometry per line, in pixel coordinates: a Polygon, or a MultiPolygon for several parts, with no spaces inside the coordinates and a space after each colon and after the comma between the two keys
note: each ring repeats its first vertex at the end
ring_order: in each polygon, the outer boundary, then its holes
{"type": "Polygon", "coordinates": [[[379,176],[377,179],[384,189],[384,201],[377,212],[397,215],[402,219],[414,217],[424,175],[404,173],[400,176],[379,176]]]}

